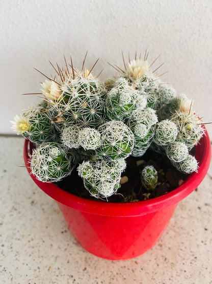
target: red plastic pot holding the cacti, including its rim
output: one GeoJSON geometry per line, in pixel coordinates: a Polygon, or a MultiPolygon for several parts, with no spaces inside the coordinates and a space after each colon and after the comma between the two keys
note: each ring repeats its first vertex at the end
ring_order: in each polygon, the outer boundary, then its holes
{"type": "MultiPolygon", "coordinates": [[[[24,161],[30,172],[33,144],[24,143],[24,161]]],[[[192,173],[181,186],[160,197],[134,203],[103,203],[80,198],[55,184],[34,182],[58,202],[68,228],[87,251],[107,259],[128,259],[149,250],[165,230],[178,202],[186,198],[204,179],[211,159],[206,132],[196,146],[198,173],[192,173]]]]}

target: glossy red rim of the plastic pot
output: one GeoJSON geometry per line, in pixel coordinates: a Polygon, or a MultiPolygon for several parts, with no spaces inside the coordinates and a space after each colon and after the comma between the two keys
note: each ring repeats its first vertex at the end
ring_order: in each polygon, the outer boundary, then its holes
{"type": "Polygon", "coordinates": [[[41,182],[31,174],[30,169],[30,144],[32,143],[25,139],[23,147],[23,157],[26,165],[26,169],[30,173],[33,181],[51,198],[73,209],[80,210],[82,212],[88,212],[92,214],[106,215],[106,216],[141,216],[147,213],[152,213],[158,210],[162,210],[168,206],[178,203],[180,200],[186,198],[191,192],[193,192],[197,186],[204,179],[207,170],[210,165],[211,159],[211,145],[207,130],[204,125],[202,127],[205,130],[205,135],[201,138],[200,143],[196,146],[195,157],[199,162],[198,172],[193,172],[190,176],[174,190],[158,196],[156,198],[131,202],[131,203],[111,203],[93,201],[80,196],[76,196],[69,193],[54,183],[41,182]]]}

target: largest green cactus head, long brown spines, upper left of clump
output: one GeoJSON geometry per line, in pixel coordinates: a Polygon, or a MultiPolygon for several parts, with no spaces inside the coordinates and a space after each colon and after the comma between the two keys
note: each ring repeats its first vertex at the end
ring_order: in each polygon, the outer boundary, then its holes
{"type": "Polygon", "coordinates": [[[98,127],[104,122],[105,89],[97,79],[78,76],[64,82],[61,91],[55,110],[62,124],[98,127]]]}

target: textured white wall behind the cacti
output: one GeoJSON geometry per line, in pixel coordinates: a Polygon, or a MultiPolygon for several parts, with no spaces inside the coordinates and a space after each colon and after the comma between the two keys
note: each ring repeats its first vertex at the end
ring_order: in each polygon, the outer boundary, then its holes
{"type": "MultiPolygon", "coordinates": [[[[12,133],[9,120],[39,100],[42,75],[52,73],[48,60],[62,63],[70,54],[81,67],[101,60],[101,78],[114,74],[107,61],[122,64],[121,50],[150,51],[166,61],[163,80],[195,99],[204,122],[212,121],[211,0],[59,0],[0,1],[0,133],[12,133]]],[[[155,66],[158,66],[158,63],[155,66]]],[[[97,74],[97,73],[96,73],[97,74]]],[[[207,129],[212,137],[212,125],[207,129]]]]}

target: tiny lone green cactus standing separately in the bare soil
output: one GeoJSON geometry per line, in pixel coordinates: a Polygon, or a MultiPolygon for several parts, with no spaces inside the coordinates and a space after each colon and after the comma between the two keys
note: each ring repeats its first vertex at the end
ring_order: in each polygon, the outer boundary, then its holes
{"type": "Polygon", "coordinates": [[[147,190],[154,190],[157,185],[157,171],[153,166],[146,166],[141,172],[141,183],[147,190]]]}

